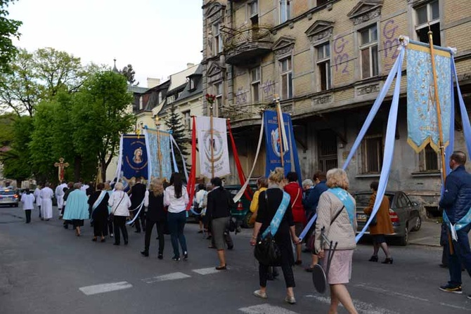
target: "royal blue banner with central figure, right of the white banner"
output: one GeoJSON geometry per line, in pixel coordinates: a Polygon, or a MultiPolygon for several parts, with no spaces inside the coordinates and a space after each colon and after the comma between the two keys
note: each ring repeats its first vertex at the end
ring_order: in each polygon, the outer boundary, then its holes
{"type": "MultiPolygon", "coordinates": [[[[291,116],[283,113],[283,120],[285,122],[285,132],[288,138],[288,150],[283,150],[285,175],[290,171],[295,171],[299,179],[299,184],[301,184],[301,167],[299,166],[299,157],[297,155],[295,133],[292,129],[291,116]]],[[[265,110],[264,129],[266,144],[265,175],[268,177],[270,175],[270,171],[281,166],[280,132],[278,130],[278,116],[276,115],[276,111],[265,110]]]]}

